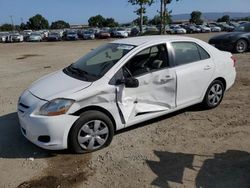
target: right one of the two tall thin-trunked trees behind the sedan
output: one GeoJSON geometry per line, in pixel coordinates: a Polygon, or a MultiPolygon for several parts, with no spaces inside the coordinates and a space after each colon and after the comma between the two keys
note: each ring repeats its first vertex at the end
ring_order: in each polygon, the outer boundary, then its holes
{"type": "MultiPolygon", "coordinates": [[[[176,0],[179,1],[179,0],[176,0]]],[[[166,24],[172,22],[171,11],[168,11],[167,5],[170,4],[172,0],[161,0],[160,4],[160,34],[166,34],[166,24]]]]}

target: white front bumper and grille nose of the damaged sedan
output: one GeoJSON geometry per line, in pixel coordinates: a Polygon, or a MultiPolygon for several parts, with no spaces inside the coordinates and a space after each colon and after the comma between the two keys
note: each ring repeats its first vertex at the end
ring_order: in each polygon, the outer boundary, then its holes
{"type": "Polygon", "coordinates": [[[18,104],[21,132],[29,141],[41,148],[66,149],[70,128],[79,117],[68,114],[59,116],[37,115],[35,113],[37,107],[43,103],[44,101],[29,92],[21,96],[18,104]]]}

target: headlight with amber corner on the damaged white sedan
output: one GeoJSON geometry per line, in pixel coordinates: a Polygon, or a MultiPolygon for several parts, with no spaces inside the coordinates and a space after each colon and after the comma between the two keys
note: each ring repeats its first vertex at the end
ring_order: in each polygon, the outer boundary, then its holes
{"type": "Polygon", "coordinates": [[[65,114],[74,102],[74,100],[63,98],[51,100],[40,108],[39,115],[57,116],[65,114]]]}

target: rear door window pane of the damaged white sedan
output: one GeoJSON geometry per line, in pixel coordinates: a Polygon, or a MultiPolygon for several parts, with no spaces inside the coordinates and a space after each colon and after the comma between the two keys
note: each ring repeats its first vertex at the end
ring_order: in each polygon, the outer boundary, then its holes
{"type": "Polygon", "coordinates": [[[183,65],[200,61],[200,53],[197,45],[192,42],[173,42],[176,65],[183,65]]]}

